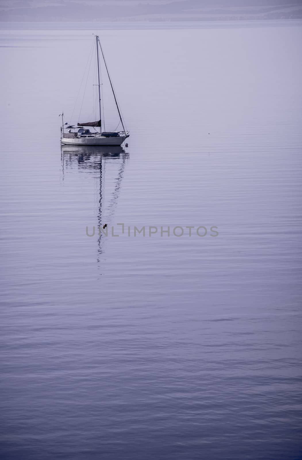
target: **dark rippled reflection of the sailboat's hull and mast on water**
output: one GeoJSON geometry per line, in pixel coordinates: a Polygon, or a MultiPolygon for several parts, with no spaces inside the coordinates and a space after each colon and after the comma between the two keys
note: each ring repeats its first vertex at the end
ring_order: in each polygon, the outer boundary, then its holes
{"type": "MultiPolygon", "coordinates": [[[[86,171],[92,169],[99,171],[99,192],[98,192],[98,212],[97,212],[97,225],[111,224],[116,207],[117,201],[120,196],[120,187],[124,176],[125,162],[129,158],[129,154],[120,146],[82,146],[82,145],[62,145],[61,146],[61,161],[63,170],[63,180],[66,170],[73,169],[77,164],[78,168],[85,169],[86,171]],[[114,173],[114,179],[109,179],[111,184],[106,184],[106,190],[110,186],[111,192],[106,197],[106,216],[103,215],[103,204],[105,200],[105,172],[106,163],[112,167],[112,160],[117,162],[118,171],[114,173]],[[104,221],[106,219],[106,222],[104,221]]],[[[116,171],[116,169],[115,169],[116,171]]],[[[95,175],[93,176],[95,177],[95,175]]],[[[98,235],[98,258],[100,262],[100,255],[102,250],[102,232],[98,235]]],[[[96,229],[96,235],[98,230],[96,229]]]]}

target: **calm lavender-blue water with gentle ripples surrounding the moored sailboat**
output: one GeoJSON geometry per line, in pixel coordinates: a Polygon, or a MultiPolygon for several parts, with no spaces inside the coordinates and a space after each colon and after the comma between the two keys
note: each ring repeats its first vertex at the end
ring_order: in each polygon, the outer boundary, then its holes
{"type": "Polygon", "coordinates": [[[301,458],[302,26],[103,31],[61,149],[92,32],[0,31],[1,459],[301,458]]]}

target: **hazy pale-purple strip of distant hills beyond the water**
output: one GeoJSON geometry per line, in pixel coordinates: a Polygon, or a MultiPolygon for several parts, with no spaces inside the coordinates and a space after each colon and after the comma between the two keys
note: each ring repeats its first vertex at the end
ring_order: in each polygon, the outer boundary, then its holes
{"type": "Polygon", "coordinates": [[[298,18],[302,0],[0,0],[1,21],[298,18]]]}

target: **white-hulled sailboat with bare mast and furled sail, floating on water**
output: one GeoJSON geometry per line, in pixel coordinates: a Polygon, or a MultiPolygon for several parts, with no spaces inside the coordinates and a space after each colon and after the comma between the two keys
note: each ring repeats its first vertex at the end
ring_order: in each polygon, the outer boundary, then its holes
{"type": "MultiPolygon", "coordinates": [[[[104,57],[103,48],[99,40],[99,36],[96,35],[96,47],[97,47],[97,86],[98,86],[98,107],[99,107],[99,120],[88,121],[85,123],[77,123],[77,127],[66,126],[68,123],[63,121],[62,116],[62,127],[61,127],[61,143],[64,145],[94,145],[94,146],[105,146],[105,145],[121,145],[125,142],[125,139],[129,137],[129,131],[126,131],[125,124],[122,119],[121,111],[117,98],[114,92],[114,87],[109,75],[107,63],[104,57]],[[114,96],[114,102],[120,117],[120,123],[123,127],[122,131],[102,131],[102,112],[101,112],[101,83],[100,83],[100,62],[99,62],[99,50],[101,51],[103,62],[107,71],[108,79],[110,82],[111,90],[114,96]],[[87,128],[88,127],[88,128],[87,128]],[[92,128],[92,131],[91,129],[92,128]],[[67,131],[67,132],[66,132],[67,131]]],[[[119,124],[120,124],[119,123],[119,124]]]]}

